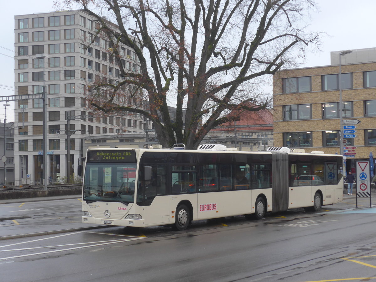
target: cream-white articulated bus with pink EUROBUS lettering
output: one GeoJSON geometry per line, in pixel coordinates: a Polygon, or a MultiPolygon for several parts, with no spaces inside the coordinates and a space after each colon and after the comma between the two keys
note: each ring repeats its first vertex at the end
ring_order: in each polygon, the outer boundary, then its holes
{"type": "Polygon", "coordinates": [[[342,156],[296,153],[286,147],[236,152],[88,149],[82,222],[147,227],[306,208],[343,200],[342,156]]]}

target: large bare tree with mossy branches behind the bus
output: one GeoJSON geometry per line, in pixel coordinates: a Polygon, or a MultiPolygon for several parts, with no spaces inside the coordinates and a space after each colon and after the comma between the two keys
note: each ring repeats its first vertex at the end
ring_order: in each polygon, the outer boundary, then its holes
{"type": "Polygon", "coordinates": [[[195,149],[213,127],[240,120],[242,111],[267,108],[270,100],[255,90],[262,76],[293,63],[309,44],[319,44],[318,33],[299,26],[314,7],[310,0],[76,2],[96,17],[96,36],[109,38],[123,77],[118,85],[97,83],[95,89],[105,87],[112,94],[99,104],[101,91],[94,91],[91,104],[106,113],[145,115],[164,147],[184,143],[195,149]],[[134,50],[139,73],[121,65],[120,43],[134,50]],[[123,85],[142,91],[150,109],[116,103],[123,85]],[[174,120],[169,99],[176,100],[174,120]],[[226,115],[232,110],[238,114],[226,115]]]}

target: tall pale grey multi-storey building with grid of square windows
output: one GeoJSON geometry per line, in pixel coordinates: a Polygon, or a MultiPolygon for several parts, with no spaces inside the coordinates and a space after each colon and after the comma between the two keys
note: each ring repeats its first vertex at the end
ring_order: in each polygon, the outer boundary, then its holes
{"type": "MultiPolygon", "coordinates": [[[[117,29],[113,23],[109,25],[117,29]]],[[[67,116],[88,115],[94,110],[86,99],[96,82],[116,85],[120,68],[94,18],[81,10],[15,16],[15,88],[17,94],[47,93],[47,148],[52,179],[67,176],[67,135],[70,136],[71,177],[82,157],[84,136],[144,132],[143,117],[100,116],[70,121],[67,116]],[[92,44],[90,44],[93,41],[92,44]],[[89,47],[88,47],[89,46],[89,47]],[[45,86],[45,87],[44,87],[45,86]]],[[[139,72],[135,52],[119,45],[126,71],[139,72]]],[[[124,88],[132,90],[129,85],[124,88]]],[[[132,92],[132,91],[130,91],[132,92]]],[[[104,94],[105,95],[105,94],[104,94]]],[[[137,96],[118,96],[117,103],[135,106],[137,96]]],[[[30,184],[42,180],[42,99],[15,103],[15,180],[29,177],[30,184]]],[[[46,177],[47,178],[47,177],[46,177]]]]}

